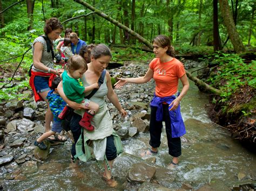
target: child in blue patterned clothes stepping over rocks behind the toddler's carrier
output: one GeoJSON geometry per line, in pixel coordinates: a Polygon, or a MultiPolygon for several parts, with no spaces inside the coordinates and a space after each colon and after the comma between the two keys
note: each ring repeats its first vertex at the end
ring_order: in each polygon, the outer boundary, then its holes
{"type": "Polygon", "coordinates": [[[64,142],[66,140],[63,136],[59,135],[59,133],[62,131],[62,126],[61,126],[61,121],[58,118],[58,115],[66,105],[66,102],[58,94],[57,87],[60,81],[61,81],[60,77],[55,77],[55,79],[53,79],[51,90],[46,96],[46,99],[48,99],[49,101],[51,112],[53,114],[53,123],[52,123],[52,129],[48,132],[45,132],[41,137],[39,137],[34,142],[34,145],[38,146],[41,150],[46,150],[47,148],[43,140],[52,135],[55,135],[55,139],[60,142],[64,142]]]}

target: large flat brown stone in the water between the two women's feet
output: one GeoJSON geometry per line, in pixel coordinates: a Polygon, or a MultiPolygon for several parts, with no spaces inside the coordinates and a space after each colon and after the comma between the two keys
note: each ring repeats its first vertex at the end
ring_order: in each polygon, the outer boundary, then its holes
{"type": "Polygon", "coordinates": [[[156,167],[149,166],[144,162],[132,165],[130,171],[128,171],[126,178],[129,182],[151,182],[154,174],[156,173],[156,167]]]}

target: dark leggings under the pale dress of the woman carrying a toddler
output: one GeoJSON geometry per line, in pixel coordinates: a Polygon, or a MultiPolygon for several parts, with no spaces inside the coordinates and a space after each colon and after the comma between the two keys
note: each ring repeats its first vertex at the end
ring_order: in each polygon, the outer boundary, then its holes
{"type": "MultiPolygon", "coordinates": [[[[81,120],[81,116],[73,113],[73,116],[70,121],[70,130],[73,134],[73,138],[75,143],[72,144],[71,154],[74,157],[76,155],[76,143],[81,135],[81,126],[79,125],[79,121],[81,120]]],[[[114,146],[114,138],[113,136],[107,137],[107,144],[106,144],[106,158],[107,160],[113,160],[117,158],[117,149],[114,146]]]]}

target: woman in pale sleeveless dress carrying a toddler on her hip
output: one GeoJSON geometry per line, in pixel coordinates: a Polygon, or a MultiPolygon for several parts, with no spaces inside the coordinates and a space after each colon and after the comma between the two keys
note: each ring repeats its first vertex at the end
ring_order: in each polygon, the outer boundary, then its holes
{"type": "MultiPolygon", "coordinates": [[[[90,87],[90,84],[97,83],[100,75],[103,70],[107,67],[112,58],[110,49],[104,45],[99,44],[92,48],[91,51],[91,62],[87,64],[88,69],[82,77],[83,85],[90,87]]],[[[64,83],[64,82],[63,82],[64,83]]],[[[75,110],[86,109],[82,104],[70,101],[66,98],[65,94],[62,91],[62,83],[59,83],[58,86],[59,94],[63,97],[66,103],[75,110]]],[[[89,93],[86,93],[86,95],[89,93]]],[[[99,105],[99,111],[96,113],[95,117],[92,118],[91,123],[95,126],[95,130],[92,132],[84,131],[84,137],[89,138],[93,142],[93,152],[97,160],[103,160],[106,156],[107,163],[109,164],[110,169],[107,167],[106,162],[105,173],[103,174],[104,179],[109,183],[111,187],[117,186],[117,182],[113,180],[111,175],[111,168],[113,165],[114,159],[117,157],[117,149],[114,145],[113,138],[113,123],[112,117],[110,115],[109,109],[107,108],[105,102],[105,96],[109,98],[109,101],[118,109],[122,117],[127,115],[127,112],[122,108],[121,104],[118,101],[117,95],[114,93],[111,85],[111,77],[109,72],[106,72],[103,84],[100,86],[98,91],[90,98],[91,101],[99,105]]],[[[71,149],[71,161],[73,166],[77,166],[77,161],[75,161],[76,149],[75,145],[81,134],[81,127],[79,125],[81,117],[77,114],[73,114],[70,122],[70,129],[73,134],[75,143],[72,145],[71,149]]]]}

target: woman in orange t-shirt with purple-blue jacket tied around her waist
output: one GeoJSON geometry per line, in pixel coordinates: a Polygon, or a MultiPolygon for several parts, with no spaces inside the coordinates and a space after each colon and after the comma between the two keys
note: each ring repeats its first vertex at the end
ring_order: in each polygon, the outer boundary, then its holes
{"type": "Polygon", "coordinates": [[[173,58],[174,50],[170,40],[164,35],[153,39],[153,52],[156,55],[149,65],[147,73],[143,77],[118,78],[114,84],[116,88],[122,88],[126,83],[146,83],[152,78],[156,82],[154,98],[151,101],[150,117],[150,146],[148,151],[142,153],[142,157],[157,154],[160,146],[163,121],[166,126],[169,154],[173,157],[168,167],[178,165],[178,157],[181,155],[180,137],[186,133],[185,125],[180,114],[180,101],[186,95],[189,83],[183,64],[173,58]],[[178,81],[183,88],[178,91],[178,81]]]}

